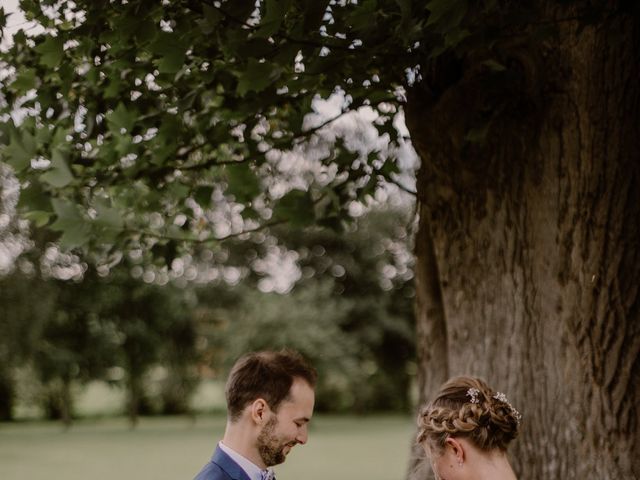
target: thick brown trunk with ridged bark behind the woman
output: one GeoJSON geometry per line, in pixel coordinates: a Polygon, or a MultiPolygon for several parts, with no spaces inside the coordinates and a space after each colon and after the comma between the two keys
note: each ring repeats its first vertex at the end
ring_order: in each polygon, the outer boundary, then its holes
{"type": "Polygon", "coordinates": [[[439,61],[409,94],[420,393],[458,374],[505,392],[521,480],[635,479],[640,22],[581,30],[551,5],[557,36],[502,45],[507,72],[439,61]]]}

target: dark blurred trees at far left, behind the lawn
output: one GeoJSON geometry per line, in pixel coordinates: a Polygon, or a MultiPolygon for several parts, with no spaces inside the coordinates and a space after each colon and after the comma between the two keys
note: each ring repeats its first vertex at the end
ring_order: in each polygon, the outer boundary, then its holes
{"type": "Polygon", "coordinates": [[[80,282],[17,271],[0,279],[0,286],[5,333],[0,353],[7,372],[3,403],[14,395],[11,375],[29,365],[42,384],[41,401],[50,417],[69,422],[71,387],[104,380],[126,388],[127,411],[135,421],[145,406],[143,381],[151,367],[160,365],[169,372],[161,408],[186,411],[196,386],[188,292],[136,282],[121,270],[104,279],[89,271],[80,282]],[[113,375],[119,369],[123,378],[113,375]],[[172,389],[181,401],[176,402],[172,389]]]}

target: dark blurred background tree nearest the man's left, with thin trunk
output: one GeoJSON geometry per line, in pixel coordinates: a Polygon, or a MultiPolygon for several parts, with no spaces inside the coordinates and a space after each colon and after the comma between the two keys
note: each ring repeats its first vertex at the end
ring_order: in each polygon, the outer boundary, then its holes
{"type": "Polygon", "coordinates": [[[127,412],[135,423],[138,413],[149,413],[151,408],[145,391],[144,379],[154,366],[162,366],[175,384],[182,402],[165,396],[171,405],[163,409],[184,413],[189,394],[196,385],[193,365],[195,352],[195,325],[191,316],[190,294],[173,285],[160,287],[147,285],[120,270],[96,282],[96,297],[100,308],[94,311],[118,336],[116,366],[125,373],[124,384],[128,392],[127,412]]]}

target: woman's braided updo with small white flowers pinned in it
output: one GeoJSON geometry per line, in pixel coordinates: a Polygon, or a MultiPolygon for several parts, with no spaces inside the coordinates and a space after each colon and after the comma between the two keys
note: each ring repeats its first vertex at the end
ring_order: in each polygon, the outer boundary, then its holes
{"type": "Polygon", "coordinates": [[[418,417],[418,442],[444,448],[449,436],[468,438],[481,450],[506,450],[518,434],[520,414],[504,394],[479,378],[456,377],[445,383],[418,417]]]}

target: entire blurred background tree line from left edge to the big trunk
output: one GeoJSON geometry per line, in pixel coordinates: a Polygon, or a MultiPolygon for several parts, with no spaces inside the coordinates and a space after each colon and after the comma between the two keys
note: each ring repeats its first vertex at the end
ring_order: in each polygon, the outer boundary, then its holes
{"type": "Polygon", "coordinates": [[[246,351],[284,347],[319,369],[320,410],[408,411],[415,374],[410,222],[407,212],[379,209],[343,235],[283,229],[271,241],[227,243],[218,266],[245,269],[233,285],[133,278],[136,268],[153,266],[130,258],[108,275],[85,264],[75,280],[60,280],[43,272],[39,258],[53,257],[55,247],[44,255],[33,248],[0,278],[2,418],[24,402],[16,384],[25,380],[16,375],[25,367],[49,418],[70,424],[78,387],[99,380],[124,389],[135,425],[140,414],[190,413],[203,378],[223,380],[246,351]],[[274,279],[259,268],[274,248],[297,258],[300,278],[288,280],[286,295],[271,291],[274,279]],[[40,271],[25,273],[25,262],[40,271]],[[158,368],[162,379],[151,385],[158,368]]]}

